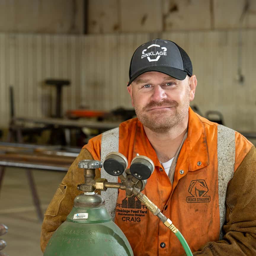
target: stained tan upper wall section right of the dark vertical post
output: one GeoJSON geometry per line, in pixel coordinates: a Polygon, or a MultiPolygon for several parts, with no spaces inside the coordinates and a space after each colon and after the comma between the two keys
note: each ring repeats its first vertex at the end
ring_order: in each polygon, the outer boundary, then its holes
{"type": "Polygon", "coordinates": [[[89,33],[255,28],[256,0],[89,0],[89,33]]]}

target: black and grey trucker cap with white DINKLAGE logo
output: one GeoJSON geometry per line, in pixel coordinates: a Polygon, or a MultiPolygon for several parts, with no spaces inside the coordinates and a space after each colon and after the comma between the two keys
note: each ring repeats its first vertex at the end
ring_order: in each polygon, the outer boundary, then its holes
{"type": "Polygon", "coordinates": [[[130,81],[148,71],[158,71],[178,80],[192,76],[192,63],[187,53],[169,40],[153,39],[139,46],[134,54],[129,69],[130,81]]]}

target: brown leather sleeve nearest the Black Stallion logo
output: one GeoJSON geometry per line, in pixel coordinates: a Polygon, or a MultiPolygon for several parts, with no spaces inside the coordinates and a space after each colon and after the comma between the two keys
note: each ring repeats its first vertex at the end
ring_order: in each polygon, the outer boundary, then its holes
{"type": "Polygon", "coordinates": [[[223,240],[208,242],[193,255],[256,255],[256,149],[254,146],[247,153],[228,185],[223,231],[225,234],[223,240]]]}

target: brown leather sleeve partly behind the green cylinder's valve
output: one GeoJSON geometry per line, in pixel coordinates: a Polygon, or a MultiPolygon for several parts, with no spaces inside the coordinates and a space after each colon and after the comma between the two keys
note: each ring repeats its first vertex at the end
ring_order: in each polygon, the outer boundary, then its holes
{"type": "MultiPolygon", "coordinates": [[[[85,148],[81,150],[68,169],[44,214],[40,241],[42,252],[44,252],[54,231],[66,220],[73,207],[74,198],[81,194],[81,191],[77,190],[77,185],[84,183],[84,172],[78,168],[78,162],[84,159],[93,159],[92,155],[85,148]]],[[[97,169],[96,177],[99,176],[100,172],[97,169]]]]}

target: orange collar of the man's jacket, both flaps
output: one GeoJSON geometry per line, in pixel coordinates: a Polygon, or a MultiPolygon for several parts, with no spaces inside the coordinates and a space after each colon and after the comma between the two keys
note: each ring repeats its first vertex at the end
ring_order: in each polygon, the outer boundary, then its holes
{"type": "MultiPolygon", "coordinates": [[[[155,166],[161,166],[155,150],[153,149],[142,123],[137,120],[133,157],[136,153],[148,156],[155,166]]],[[[199,116],[191,108],[188,110],[188,135],[183,143],[176,166],[188,171],[196,171],[209,165],[209,153],[207,147],[204,124],[199,116]],[[201,162],[201,164],[199,163],[201,162]]]]}

